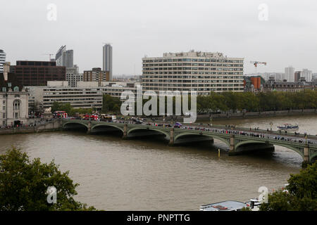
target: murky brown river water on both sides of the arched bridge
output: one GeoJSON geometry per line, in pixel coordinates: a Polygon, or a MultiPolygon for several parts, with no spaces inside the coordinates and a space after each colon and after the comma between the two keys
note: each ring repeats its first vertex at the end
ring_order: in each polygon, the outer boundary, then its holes
{"type": "MultiPolygon", "coordinates": [[[[267,129],[270,122],[273,129],[297,123],[299,132],[317,134],[316,115],[213,123],[267,129]]],[[[270,192],[284,186],[302,166],[302,158],[287,148],[275,146],[269,155],[228,156],[228,146],[216,139],[216,147],[171,147],[155,136],[123,140],[116,135],[57,131],[2,135],[0,142],[0,154],[16,146],[42,162],[54,159],[80,184],[75,198],[99,210],[199,210],[200,205],[222,200],[245,202],[259,196],[260,186],[270,192]]]]}

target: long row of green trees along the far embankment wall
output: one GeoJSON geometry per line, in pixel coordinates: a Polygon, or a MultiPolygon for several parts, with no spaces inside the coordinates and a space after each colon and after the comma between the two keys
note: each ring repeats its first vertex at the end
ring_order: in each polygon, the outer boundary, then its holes
{"type": "Polygon", "coordinates": [[[275,111],[304,110],[317,108],[317,91],[299,92],[272,91],[268,93],[211,92],[209,96],[197,96],[197,113],[236,112],[237,110],[275,111]]]}

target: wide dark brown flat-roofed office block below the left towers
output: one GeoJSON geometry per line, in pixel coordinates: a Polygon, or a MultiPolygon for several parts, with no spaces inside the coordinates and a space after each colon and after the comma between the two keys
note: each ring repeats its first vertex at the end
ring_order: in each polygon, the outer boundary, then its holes
{"type": "Polygon", "coordinates": [[[16,61],[11,72],[22,86],[46,86],[48,81],[66,80],[66,68],[50,61],[16,61]]]}

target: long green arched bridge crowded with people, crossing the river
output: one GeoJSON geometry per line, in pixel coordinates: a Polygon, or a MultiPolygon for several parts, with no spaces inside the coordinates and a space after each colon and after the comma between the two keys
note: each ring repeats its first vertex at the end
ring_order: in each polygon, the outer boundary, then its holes
{"type": "Polygon", "coordinates": [[[170,124],[143,123],[135,124],[127,121],[104,122],[93,120],[63,119],[61,127],[67,129],[85,129],[87,134],[104,131],[120,131],[123,139],[135,136],[162,135],[170,145],[194,141],[223,141],[229,147],[229,155],[237,155],[249,151],[274,151],[274,146],[282,146],[294,150],[303,158],[303,164],[314,162],[317,158],[317,136],[285,133],[259,129],[233,128],[225,126],[176,128],[170,124]],[[161,125],[161,126],[159,126],[161,125]]]}

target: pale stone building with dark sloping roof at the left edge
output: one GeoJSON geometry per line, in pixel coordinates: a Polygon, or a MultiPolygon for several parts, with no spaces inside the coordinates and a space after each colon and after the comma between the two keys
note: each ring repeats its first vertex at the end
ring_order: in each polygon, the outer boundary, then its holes
{"type": "Polygon", "coordinates": [[[27,124],[28,94],[15,74],[10,72],[10,63],[0,72],[0,127],[27,124]]]}

